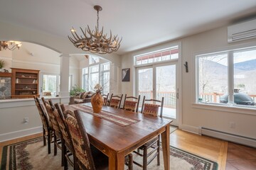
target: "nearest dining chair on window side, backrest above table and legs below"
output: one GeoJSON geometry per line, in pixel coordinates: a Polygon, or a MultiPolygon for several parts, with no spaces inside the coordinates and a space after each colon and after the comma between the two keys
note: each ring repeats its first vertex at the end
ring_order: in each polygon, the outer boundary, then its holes
{"type": "MultiPolygon", "coordinates": [[[[164,97],[161,100],[156,99],[146,99],[143,97],[142,101],[142,113],[144,115],[150,116],[159,116],[162,118],[164,108],[164,97]],[[160,110],[160,114],[159,114],[160,110]]],[[[157,157],[157,165],[160,165],[160,135],[154,137],[153,139],[146,142],[144,145],[139,147],[137,151],[134,151],[139,156],[143,157],[143,164],[139,164],[139,162],[134,161],[134,164],[142,167],[143,170],[146,170],[146,166],[150,164],[157,157]],[[140,150],[143,151],[143,154],[140,153],[140,150]],[[150,157],[149,161],[148,158],[150,157]]]]}

